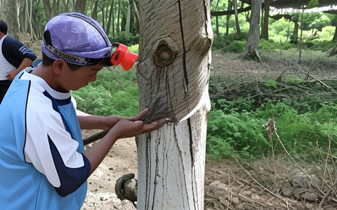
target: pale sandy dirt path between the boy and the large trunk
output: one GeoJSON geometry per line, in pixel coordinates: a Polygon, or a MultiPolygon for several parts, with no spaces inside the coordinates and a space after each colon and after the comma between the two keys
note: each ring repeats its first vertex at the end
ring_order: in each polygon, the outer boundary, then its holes
{"type": "MultiPolygon", "coordinates": [[[[95,132],[98,131],[84,131],[82,134],[85,138],[95,132]]],[[[119,139],[102,164],[89,177],[88,193],[82,209],[136,209],[131,202],[121,202],[114,193],[117,179],[128,173],[134,173],[137,176],[135,138],[119,139]]]]}

